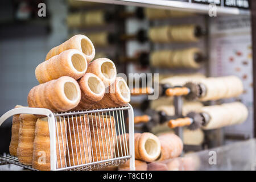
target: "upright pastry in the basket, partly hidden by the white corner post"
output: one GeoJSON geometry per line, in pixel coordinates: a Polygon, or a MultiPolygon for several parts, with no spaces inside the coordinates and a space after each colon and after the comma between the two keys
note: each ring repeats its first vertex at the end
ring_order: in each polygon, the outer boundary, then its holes
{"type": "MultiPolygon", "coordinates": [[[[57,118],[55,126],[57,158],[56,167],[62,168],[67,166],[65,162],[65,155],[67,154],[67,122],[64,121],[63,118],[57,118]]],[[[51,150],[47,118],[41,118],[36,121],[32,167],[41,171],[51,170],[51,150]]]]}

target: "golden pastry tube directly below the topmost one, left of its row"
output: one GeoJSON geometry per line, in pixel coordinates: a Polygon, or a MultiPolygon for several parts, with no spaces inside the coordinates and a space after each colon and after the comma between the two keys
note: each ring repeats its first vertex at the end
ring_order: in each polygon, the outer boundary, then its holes
{"type": "Polygon", "coordinates": [[[61,76],[69,76],[77,80],[86,70],[87,61],[84,54],[77,49],[68,49],[39,64],[35,69],[35,76],[40,84],[61,76]]]}

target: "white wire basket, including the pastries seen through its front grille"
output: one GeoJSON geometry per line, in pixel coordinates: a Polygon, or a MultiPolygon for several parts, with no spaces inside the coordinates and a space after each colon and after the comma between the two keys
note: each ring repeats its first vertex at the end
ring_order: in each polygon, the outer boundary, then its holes
{"type": "MultiPolygon", "coordinates": [[[[0,126],[15,114],[44,115],[48,118],[52,171],[94,170],[117,166],[127,160],[130,170],[135,170],[134,114],[130,104],[66,113],[52,113],[43,108],[16,108],[2,115],[0,126]],[[129,134],[126,134],[125,116],[129,118],[129,134]],[[61,122],[65,124],[62,125],[61,122]]],[[[20,163],[15,156],[0,155],[0,165],[8,163],[36,170],[20,163]]]]}

